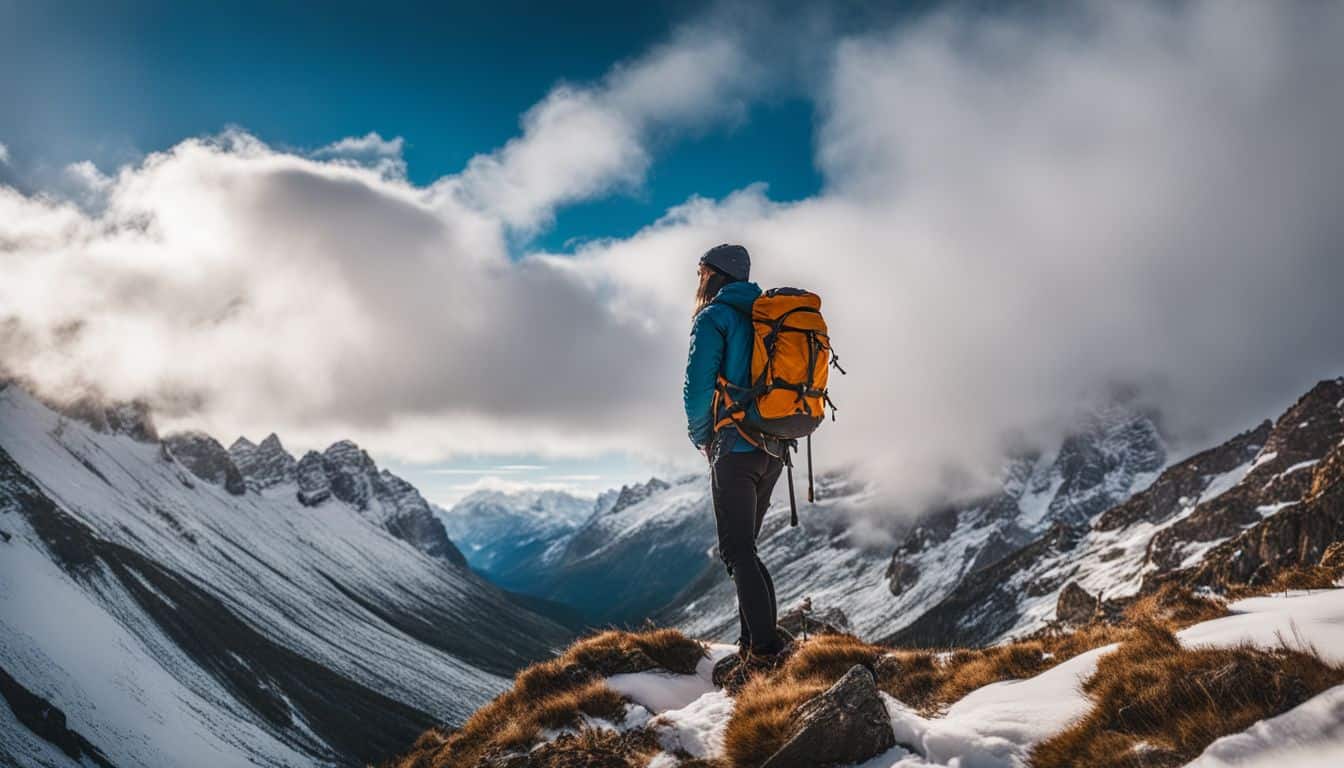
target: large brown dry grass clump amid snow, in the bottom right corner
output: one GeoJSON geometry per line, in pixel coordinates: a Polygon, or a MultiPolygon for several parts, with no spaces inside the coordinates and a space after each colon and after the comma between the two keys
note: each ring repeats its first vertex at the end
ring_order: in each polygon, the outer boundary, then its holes
{"type": "Polygon", "coordinates": [[[1183,648],[1142,624],[1083,683],[1093,710],[1039,744],[1034,768],[1183,765],[1220,736],[1245,730],[1344,682],[1344,670],[1294,650],[1183,648]]]}

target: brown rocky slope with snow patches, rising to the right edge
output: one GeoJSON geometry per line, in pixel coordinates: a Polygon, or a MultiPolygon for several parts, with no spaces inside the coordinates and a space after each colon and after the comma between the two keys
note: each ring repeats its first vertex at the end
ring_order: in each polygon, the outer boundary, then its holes
{"type": "Polygon", "coordinates": [[[1344,379],[1324,381],[1273,424],[1173,464],[1086,525],[1054,526],[884,636],[902,644],[991,643],[1052,621],[1066,589],[1122,605],[1145,582],[1254,584],[1259,566],[1312,564],[1344,534],[1340,491],[1312,496],[1333,487],[1327,480],[1333,463],[1344,464],[1341,440],[1344,379]]]}

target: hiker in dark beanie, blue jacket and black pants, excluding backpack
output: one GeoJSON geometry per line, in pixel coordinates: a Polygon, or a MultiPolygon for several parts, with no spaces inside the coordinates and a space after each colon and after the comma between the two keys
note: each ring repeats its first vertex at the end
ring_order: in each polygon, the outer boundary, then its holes
{"type": "Polygon", "coordinates": [[[719,557],[738,592],[739,656],[769,664],[788,640],[775,631],[774,582],[755,539],[784,461],[780,451],[762,451],[724,420],[724,398],[715,394],[719,377],[743,390],[751,383],[751,304],[761,288],[749,281],[750,272],[741,245],[719,245],[700,257],[681,394],[691,443],[710,463],[719,557]]]}

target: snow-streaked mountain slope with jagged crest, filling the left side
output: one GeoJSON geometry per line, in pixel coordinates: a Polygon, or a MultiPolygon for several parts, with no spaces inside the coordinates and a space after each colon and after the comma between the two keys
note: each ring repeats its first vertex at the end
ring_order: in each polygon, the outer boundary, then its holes
{"type": "Polygon", "coordinates": [[[0,385],[0,764],[364,764],[566,639],[353,444],[0,385]]]}

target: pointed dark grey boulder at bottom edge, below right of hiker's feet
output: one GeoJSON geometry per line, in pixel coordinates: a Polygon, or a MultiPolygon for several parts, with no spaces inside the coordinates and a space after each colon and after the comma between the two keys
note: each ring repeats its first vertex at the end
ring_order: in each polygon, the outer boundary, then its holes
{"type": "Polygon", "coordinates": [[[895,745],[872,673],[856,664],[794,712],[789,740],[762,768],[851,765],[895,745]]]}

